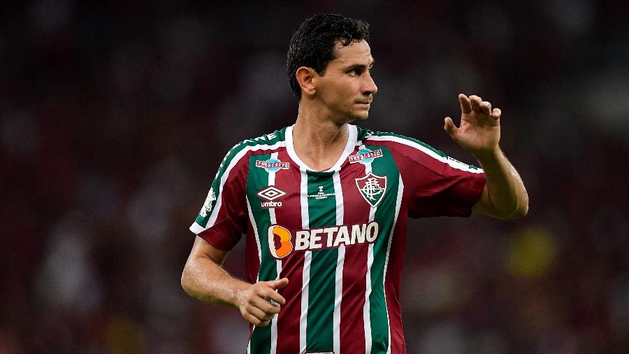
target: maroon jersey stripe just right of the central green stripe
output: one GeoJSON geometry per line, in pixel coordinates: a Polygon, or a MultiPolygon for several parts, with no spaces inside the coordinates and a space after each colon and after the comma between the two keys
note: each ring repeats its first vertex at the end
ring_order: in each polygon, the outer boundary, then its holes
{"type": "MultiPolygon", "coordinates": [[[[351,220],[352,224],[369,221],[371,207],[361,196],[355,180],[356,176],[365,174],[364,170],[363,164],[352,164],[345,166],[340,174],[343,201],[345,201],[345,220],[351,220]],[[355,202],[348,203],[348,201],[355,202]]],[[[365,306],[368,248],[368,243],[345,248],[340,309],[340,349],[342,353],[365,353],[363,307],[365,306]]]]}

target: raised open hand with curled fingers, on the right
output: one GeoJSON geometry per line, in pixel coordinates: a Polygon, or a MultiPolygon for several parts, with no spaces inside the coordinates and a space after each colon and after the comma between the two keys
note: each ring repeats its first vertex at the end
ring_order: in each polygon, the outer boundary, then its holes
{"type": "Polygon", "coordinates": [[[491,104],[478,96],[469,98],[458,95],[461,103],[461,125],[456,127],[446,117],[443,129],[452,140],[476,157],[495,153],[500,141],[500,109],[491,109],[491,104]]]}

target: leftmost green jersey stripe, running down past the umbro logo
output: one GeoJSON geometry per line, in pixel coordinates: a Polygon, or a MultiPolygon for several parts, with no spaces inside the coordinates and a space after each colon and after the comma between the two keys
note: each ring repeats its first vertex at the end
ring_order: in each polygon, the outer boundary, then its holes
{"type": "MultiPolygon", "coordinates": [[[[256,222],[258,238],[260,242],[261,260],[258,272],[259,281],[272,281],[277,278],[277,263],[268,250],[268,226],[270,214],[267,209],[260,207],[259,190],[268,186],[268,172],[256,167],[256,160],[266,161],[270,155],[254,155],[249,160],[249,176],[247,176],[247,198],[251,204],[251,211],[256,222]]],[[[251,353],[270,352],[270,328],[255,327],[251,336],[251,353]]]]}

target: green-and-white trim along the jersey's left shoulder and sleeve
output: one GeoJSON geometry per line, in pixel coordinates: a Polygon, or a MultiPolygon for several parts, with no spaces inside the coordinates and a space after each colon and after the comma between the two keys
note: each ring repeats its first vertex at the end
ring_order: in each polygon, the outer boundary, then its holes
{"type": "MultiPolygon", "coordinates": [[[[210,201],[210,204],[208,205],[208,211],[211,210],[210,217],[207,218],[205,225],[203,225],[203,220],[205,218],[201,218],[201,215],[199,215],[199,217],[197,217],[190,226],[190,231],[194,232],[194,234],[199,234],[215,225],[215,222],[219,215],[219,211],[221,210],[223,204],[222,194],[226,180],[229,178],[229,176],[231,176],[232,170],[236,167],[236,165],[238,165],[238,162],[240,162],[243,157],[248,156],[250,153],[259,150],[277,150],[278,148],[283,148],[285,145],[285,141],[277,141],[273,145],[247,145],[247,141],[245,141],[245,143],[240,143],[234,146],[223,160],[222,166],[219,167],[217,176],[212,183],[212,187],[210,187],[210,194],[213,192],[213,190],[218,190],[217,197],[214,198],[215,200],[210,201]],[[226,162],[228,161],[229,163],[226,164],[226,162]]],[[[243,164],[243,166],[244,165],[246,164],[243,164]]]]}

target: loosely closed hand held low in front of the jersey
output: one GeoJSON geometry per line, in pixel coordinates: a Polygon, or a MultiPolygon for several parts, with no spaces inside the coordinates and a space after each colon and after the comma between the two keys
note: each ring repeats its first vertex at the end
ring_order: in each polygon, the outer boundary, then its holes
{"type": "Polygon", "coordinates": [[[288,285],[288,278],[276,281],[259,281],[251,284],[238,295],[238,309],[245,320],[258,327],[266,327],[270,320],[280,313],[281,305],[286,304],[277,289],[288,285]]]}

